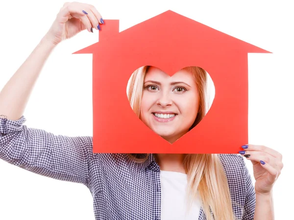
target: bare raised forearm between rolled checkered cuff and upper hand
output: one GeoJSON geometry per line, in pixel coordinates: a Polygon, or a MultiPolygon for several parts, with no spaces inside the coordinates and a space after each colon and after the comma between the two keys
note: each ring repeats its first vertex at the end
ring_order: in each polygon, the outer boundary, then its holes
{"type": "Polygon", "coordinates": [[[23,115],[32,88],[54,47],[54,44],[42,39],[2,88],[0,115],[6,115],[11,120],[17,120],[23,115]]]}

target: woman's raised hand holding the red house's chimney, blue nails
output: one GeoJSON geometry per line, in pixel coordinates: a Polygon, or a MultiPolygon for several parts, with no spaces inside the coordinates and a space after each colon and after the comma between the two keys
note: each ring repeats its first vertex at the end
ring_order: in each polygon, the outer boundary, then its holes
{"type": "Polygon", "coordinates": [[[93,32],[92,27],[100,30],[99,24],[102,23],[104,23],[103,19],[93,5],[80,2],[66,2],[44,38],[46,41],[57,45],[82,30],[87,29],[89,32],[93,32]]]}

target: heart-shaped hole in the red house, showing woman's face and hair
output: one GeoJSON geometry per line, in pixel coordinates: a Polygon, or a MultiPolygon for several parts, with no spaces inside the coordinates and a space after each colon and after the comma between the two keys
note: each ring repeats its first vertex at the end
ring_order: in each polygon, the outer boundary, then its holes
{"type": "Polygon", "coordinates": [[[142,66],[131,75],[126,92],[141,121],[170,143],[196,127],[215,97],[210,75],[197,66],[172,76],[157,67],[142,66]]]}

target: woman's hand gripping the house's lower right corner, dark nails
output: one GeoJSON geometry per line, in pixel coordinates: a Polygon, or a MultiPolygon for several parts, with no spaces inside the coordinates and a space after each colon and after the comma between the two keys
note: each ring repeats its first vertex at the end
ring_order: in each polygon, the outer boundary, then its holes
{"type": "Polygon", "coordinates": [[[256,194],[270,194],[283,168],[282,154],[261,145],[247,144],[243,146],[243,149],[244,151],[239,153],[253,164],[256,194]]]}

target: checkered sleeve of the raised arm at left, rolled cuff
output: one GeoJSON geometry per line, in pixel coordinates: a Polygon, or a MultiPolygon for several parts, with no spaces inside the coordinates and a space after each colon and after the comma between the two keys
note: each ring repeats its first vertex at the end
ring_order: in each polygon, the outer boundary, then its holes
{"type": "Polygon", "coordinates": [[[27,128],[26,119],[0,116],[0,159],[25,170],[88,186],[93,138],[27,128]]]}

